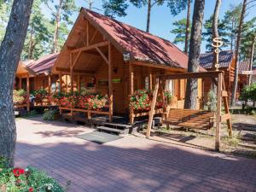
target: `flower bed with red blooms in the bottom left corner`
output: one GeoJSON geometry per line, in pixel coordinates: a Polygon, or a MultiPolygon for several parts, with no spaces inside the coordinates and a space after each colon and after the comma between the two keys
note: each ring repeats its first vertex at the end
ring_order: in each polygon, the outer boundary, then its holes
{"type": "Polygon", "coordinates": [[[64,192],[64,189],[54,178],[44,172],[28,167],[0,168],[0,191],[1,192],[64,192]]]}

